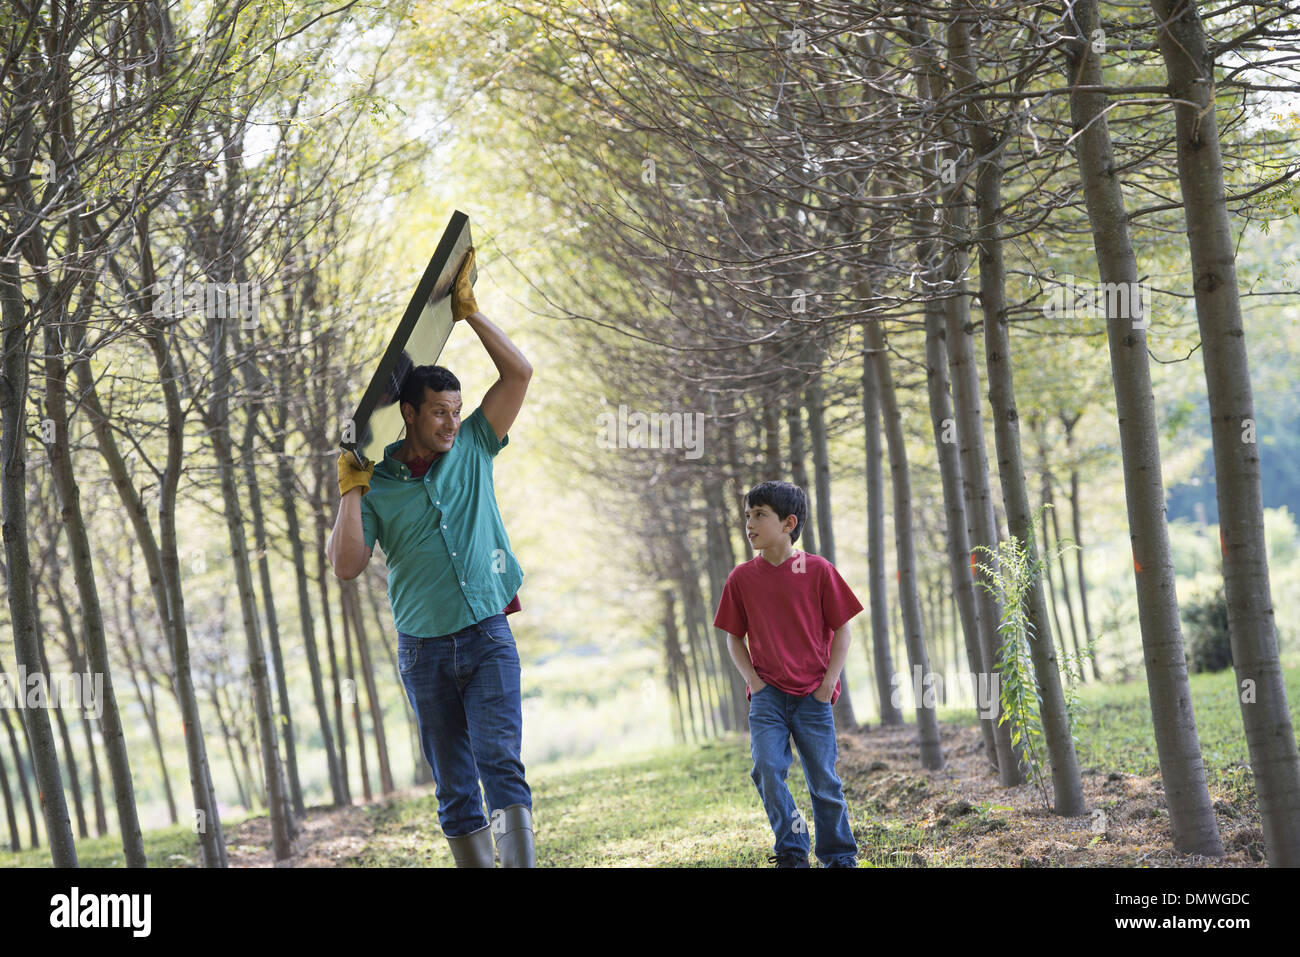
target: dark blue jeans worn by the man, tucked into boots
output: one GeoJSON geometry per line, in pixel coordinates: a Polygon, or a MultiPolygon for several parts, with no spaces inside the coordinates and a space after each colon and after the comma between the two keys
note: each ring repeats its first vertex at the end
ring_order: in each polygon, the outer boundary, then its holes
{"type": "Polygon", "coordinates": [[[398,632],[398,671],[433,768],[442,832],[460,837],[486,827],[484,796],[493,813],[515,804],[532,810],[519,759],[519,651],[506,615],[437,638],[398,632]]]}

